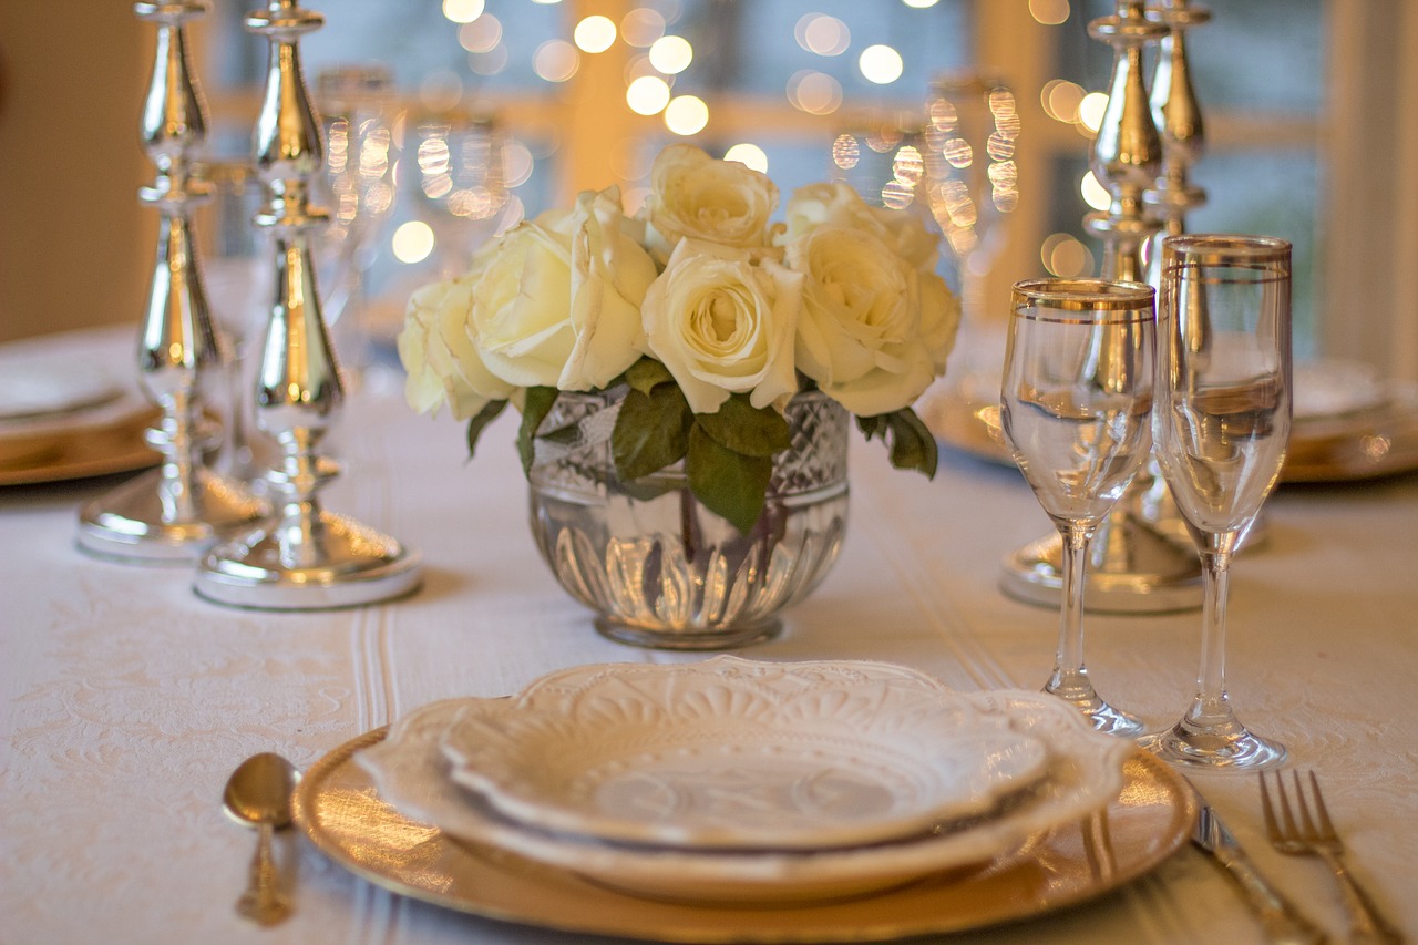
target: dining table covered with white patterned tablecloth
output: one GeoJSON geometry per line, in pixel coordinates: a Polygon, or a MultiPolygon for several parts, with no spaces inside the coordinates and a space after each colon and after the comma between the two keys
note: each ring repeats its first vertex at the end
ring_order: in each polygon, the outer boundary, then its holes
{"type": "MultiPolygon", "coordinates": [[[[438,700],[515,694],[584,664],[712,656],[596,633],[529,531],[513,411],[469,457],[464,424],[406,404],[387,352],[352,375],[347,394],[325,443],[343,472],[320,497],[418,551],[421,586],[397,600],[217,604],[193,592],[189,563],[78,548],[79,509],[132,472],[0,488],[0,942],[621,941],[577,928],[556,897],[508,915],[401,894],[298,829],[275,836],[294,914],[269,927],[237,914],[255,833],[224,814],[223,789],[242,759],[278,752],[309,772],[438,700]]],[[[1005,556],[1049,529],[1020,472],[944,448],[927,478],[893,470],[859,436],[849,470],[835,566],[784,612],[778,637],[739,656],[902,664],[967,692],[1039,690],[1059,614],[1000,590],[1005,556]]],[[[1282,484],[1263,524],[1232,569],[1229,694],[1252,729],[1288,746],[1286,772],[1317,773],[1353,873],[1418,935],[1418,474],[1282,484]]],[[[1109,701],[1150,729],[1180,718],[1195,688],[1198,610],[1090,612],[1086,633],[1089,674],[1109,701]]],[[[1268,843],[1256,775],[1187,776],[1258,868],[1343,941],[1326,866],[1268,843]]],[[[641,907],[614,895],[627,912],[641,907]]],[[[783,918],[794,908],[763,907],[771,934],[747,910],[719,941],[795,941],[783,918]]],[[[1228,875],[1190,843],[1083,901],[1021,902],[1007,921],[949,931],[1001,945],[1266,941],[1228,875]]],[[[665,938],[683,939],[671,927],[665,938]]]]}

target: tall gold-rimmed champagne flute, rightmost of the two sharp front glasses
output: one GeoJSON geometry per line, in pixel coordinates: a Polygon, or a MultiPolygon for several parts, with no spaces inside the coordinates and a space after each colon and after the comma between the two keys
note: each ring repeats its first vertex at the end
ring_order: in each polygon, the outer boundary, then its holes
{"type": "Polygon", "coordinates": [[[1201,555],[1205,597],[1197,697],[1141,744],[1187,766],[1272,766],[1285,748],[1249,732],[1227,695],[1227,590],[1290,433],[1290,244],[1176,236],[1161,265],[1157,460],[1201,555]]]}

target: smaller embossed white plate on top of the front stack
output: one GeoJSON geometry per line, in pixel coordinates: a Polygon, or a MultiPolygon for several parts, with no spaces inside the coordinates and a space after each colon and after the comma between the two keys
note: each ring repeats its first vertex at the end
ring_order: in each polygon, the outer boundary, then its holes
{"type": "Polygon", "coordinates": [[[444,732],[450,776],[512,820],[715,849],[878,843],[987,814],[1038,780],[1039,739],[906,667],[591,665],[444,732]]]}

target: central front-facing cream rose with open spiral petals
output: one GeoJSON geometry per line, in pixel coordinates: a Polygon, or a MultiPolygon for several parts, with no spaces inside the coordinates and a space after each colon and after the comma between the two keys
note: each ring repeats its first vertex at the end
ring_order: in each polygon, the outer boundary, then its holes
{"type": "Polygon", "coordinates": [[[803,277],[746,250],[682,240],[645,295],[649,352],[695,413],[730,393],[783,407],[797,392],[793,336],[803,277]]]}

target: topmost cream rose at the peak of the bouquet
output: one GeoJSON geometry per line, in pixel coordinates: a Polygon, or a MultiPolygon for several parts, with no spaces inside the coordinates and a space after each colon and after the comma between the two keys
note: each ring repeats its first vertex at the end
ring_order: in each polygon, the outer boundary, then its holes
{"type": "Polygon", "coordinates": [[[778,187],[767,175],[692,145],[671,145],[655,158],[649,186],[645,211],[668,248],[683,238],[739,248],[769,244],[778,187]]]}

